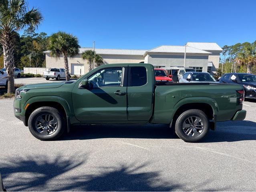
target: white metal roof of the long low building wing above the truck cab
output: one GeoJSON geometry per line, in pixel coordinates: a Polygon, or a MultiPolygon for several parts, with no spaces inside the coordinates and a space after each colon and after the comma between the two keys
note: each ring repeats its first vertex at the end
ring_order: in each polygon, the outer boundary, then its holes
{"type": "MultiPolygon", "coordinates": [[[[93,48],[79,48],[79,54],[87,50],[93,50],[93,48]]],[[[143,56],[147,50],[133,50],[133,49],[95,49],[95,52],[99,55],[138,55],[143,56]]],[[[44,53],[50,53],[50,51],[44,51],[44,53]]]]}

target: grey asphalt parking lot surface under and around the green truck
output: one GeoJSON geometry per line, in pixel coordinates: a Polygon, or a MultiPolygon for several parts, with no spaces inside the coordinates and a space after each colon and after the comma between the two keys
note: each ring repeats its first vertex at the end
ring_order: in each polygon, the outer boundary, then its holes
{"type": "Polygon", "coordinates": [[[0,100],[0,172],[8,191],[255,191],[256,102],[246,120],[219,122],[200,143],[168,126],[80,126],[34,138],[0,100]]]}

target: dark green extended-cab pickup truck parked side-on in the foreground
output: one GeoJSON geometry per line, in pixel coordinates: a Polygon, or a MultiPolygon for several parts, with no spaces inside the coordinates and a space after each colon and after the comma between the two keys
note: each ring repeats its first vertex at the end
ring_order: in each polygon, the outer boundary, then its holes
{"type": "Polygon", "coordinates": [[[197,142],[216,122],[244,120],[243,101],[240,84],[157,84],[151,64],[106,64],[76,81],[18,88],[14,114],[40,140],[54,140],[75,124],[163,123],[197,142]]]}

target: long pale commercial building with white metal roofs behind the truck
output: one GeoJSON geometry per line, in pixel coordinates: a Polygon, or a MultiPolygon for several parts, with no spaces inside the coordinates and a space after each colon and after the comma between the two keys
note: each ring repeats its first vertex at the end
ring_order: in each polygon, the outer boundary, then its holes
{"type": "MultiPolygon", "coordinates": [[[[93,48],[80,48],[79,54],[69,59],[71,74],[82,75],[88,72],[89,66],[81,54],[93,48]]],[[[216,43],[188,42],[185,46],[162,45],[151,50],[126,50],[126,49],[95,49],[95,52],[103,58],[104,64],[113,63],[150,63],[156,68],[161,66],[193,67],[199,72],[214,73],[219,67],[220,53],[222,49],[216,43]]],[[[63,68],[62,57],[50,56],[50,51],[45,51],[46,68],[63,68]]]]}

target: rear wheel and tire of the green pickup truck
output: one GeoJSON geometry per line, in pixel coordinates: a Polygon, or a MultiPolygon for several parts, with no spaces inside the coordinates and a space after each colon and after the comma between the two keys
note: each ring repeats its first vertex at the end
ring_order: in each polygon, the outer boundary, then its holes
{"type": "Polygon", "coordinates": [[[175,133],[185,142],[198,142],[205,138],[209,130],[208,117],[198,109],[183,112],[175,123],[175,133]],[[198,122],[198,120],[200,121],[198,122]]]}

